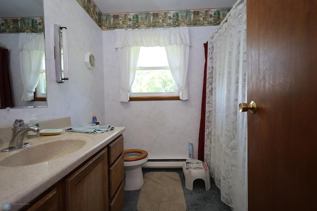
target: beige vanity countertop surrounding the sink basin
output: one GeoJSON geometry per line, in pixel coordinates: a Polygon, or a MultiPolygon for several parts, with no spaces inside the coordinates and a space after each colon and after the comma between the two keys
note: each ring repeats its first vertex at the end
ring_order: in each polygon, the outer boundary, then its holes
{"type": "MultiPolygon", "coordinates": [[[[27,148],[36,147],[55,140],[66,139],[81,139],[85,140],[86,144],[79,150],[64,155],[60,158],[54,158],[49,161],[44,161],[36,164],[21,165],[21,166],[3,166],[0,165],[0,203],[10,204],[27,204],[42,192],[59,181],[78,165],[93,156],[103,147],[108,145],[116,137],[125,131],[124,127],[115,127],[114,130],[101,134],[87,134],[68,132],[63,130],[60,135],[55,136],[40,136],[35,139],[28,139],[31,146],[14,150],[11,152],[0,153],[0,163],[8,156],[14,156],[19,151],[27,148]]],[[[8,143],[0,145],[0,149],[8,147],[8,143]]],[[[43,150],[43,156],[46,151],[43,150]]],[[[60,149],[67,151],[67,149],[60,149]]],[[[13,158],[13,157],[12,157],[13,158]]],[[[28,159],[28,158],[25,158],[28,159]]]]}

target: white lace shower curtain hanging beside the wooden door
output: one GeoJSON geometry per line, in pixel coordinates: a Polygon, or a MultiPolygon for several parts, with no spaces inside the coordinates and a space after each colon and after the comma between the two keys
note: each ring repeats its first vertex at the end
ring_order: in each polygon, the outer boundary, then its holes
{"type": "Polygon", "coordinates": [[[234,211],[248,210],[246,1],[209,40],[205,161],[220,189],[221,201],[234,211]]]}

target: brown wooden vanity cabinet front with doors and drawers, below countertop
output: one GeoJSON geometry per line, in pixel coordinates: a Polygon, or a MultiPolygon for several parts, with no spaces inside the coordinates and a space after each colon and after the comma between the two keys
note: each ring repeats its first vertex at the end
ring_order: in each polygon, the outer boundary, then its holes
{"type": "Polygon", "coordinates": [[[120,211],[124,203],[123,136],[57,182],[28,211],[120,211]]]}

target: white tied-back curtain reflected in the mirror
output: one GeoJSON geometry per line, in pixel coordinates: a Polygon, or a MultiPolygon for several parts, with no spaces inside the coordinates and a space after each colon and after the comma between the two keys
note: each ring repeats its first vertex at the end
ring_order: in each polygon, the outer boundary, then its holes
{"type": "Polygon", "coordinates": [[[34,100],[39,83],[42,59],[45,54],[44,34],[20,34],[20,70],[24,87],[21,101],[34,100]]]}

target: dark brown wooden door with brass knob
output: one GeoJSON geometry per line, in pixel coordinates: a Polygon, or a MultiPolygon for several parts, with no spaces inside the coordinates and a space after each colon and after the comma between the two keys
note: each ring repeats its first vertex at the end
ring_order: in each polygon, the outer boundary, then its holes
{"type": "Polygon", "coordinates": [[[317,199],[317,1],[247,0],[249,211],[317,199]]]}

